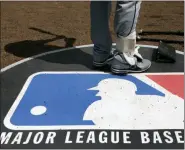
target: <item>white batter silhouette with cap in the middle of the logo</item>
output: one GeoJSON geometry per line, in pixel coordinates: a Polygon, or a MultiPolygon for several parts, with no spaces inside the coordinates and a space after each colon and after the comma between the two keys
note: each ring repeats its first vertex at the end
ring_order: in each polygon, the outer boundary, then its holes
{"type": "Polygon", "coordinates": [[[184,129],[184,101],[171,93],[165,97],[136,95],[137,87],[124,79],[105,79],[97,87],[99,101],[91,104],[84,120],[110,129],[184,129]]]}

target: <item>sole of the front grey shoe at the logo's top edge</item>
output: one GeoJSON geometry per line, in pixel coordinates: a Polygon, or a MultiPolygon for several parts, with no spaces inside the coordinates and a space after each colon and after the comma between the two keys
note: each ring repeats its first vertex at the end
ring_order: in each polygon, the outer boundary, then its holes
{"type": "Polygon", "coordinates": [[[151,67],[151,64],[150,66],[148,66],[146,69],[143,69],[143,70],[119,70],[119,69],[115,69],[113,67],[111,67],[111,71],[112,73],[114,74],[127,74],[127,73],[141,73],[141,72],[145,72],[146,70],[148,70],[149,68],[151,67]]]}

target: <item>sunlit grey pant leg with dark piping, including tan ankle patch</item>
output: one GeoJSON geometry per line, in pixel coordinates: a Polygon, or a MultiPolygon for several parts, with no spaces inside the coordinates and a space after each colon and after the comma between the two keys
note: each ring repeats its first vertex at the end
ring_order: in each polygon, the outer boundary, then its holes
{"type": "Polygon", "coordinates": [[[122,0],[117,2],[114,28],[117,35],[117,49],[121,52],[131,52],[136,45],[136,25],[141,1],[122,0]]]}

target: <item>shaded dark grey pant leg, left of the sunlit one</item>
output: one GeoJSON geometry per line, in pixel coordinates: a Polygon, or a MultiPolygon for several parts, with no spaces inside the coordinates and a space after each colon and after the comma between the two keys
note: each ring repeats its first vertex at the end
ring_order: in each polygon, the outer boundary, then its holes
{"type": "Polygon", "coordinates": [[[103,60],[108,57],[112,39],[109,31],[110,1],[91,1],[91,39],[94,44],[93,56],[103,60]]]}

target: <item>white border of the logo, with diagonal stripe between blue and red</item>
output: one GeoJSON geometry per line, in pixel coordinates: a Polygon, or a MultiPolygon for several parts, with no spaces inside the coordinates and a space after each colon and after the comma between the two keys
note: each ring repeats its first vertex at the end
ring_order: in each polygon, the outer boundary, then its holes
{"type": "MultiPolygon", "coordinates": [[[[101,129],[99,126],[94,126],[94,125],[78,125],[78,126],[74,126],[74,125],[60,125],[60,126],[16,126],[13,125],[10,121],[11,117],[13,116],[17,106],[19,105],[22,97],[24,96],[27,88],[29,87],[31,81],[33,80],[33,78],[35,76],[38,76],[40,74],[109,74],[109,73],[105,73],[105,72],[92,72],[92,71],[41,71],[41,72],[37,72],[34,73],[32,75],[30,75],[27,79],[27,81],[25,82],[25,84],[23,85],[20,93],[18,94],[17,98],[15,99],[14,103],[12,104],[11,108],[9,109],[7,115],[4,118],[4,126],[8,129],[11,130],[79,130],[79,129],[101,129]]],[[[151,87],[155,88],[156,87],[161,90],[164,93],[168,93],[171,94],[169,91],[167,91],[165,88],[163,88],[162,86],[158,85],[157,83],[155,83],[153,80],[149,79],[146,75],[184,75],[184,72],[176,72],[176,73],[140,73],[140,74],[129,74],[132,75],[136,78],[139,77],[139,80],[143,81],[144,83],[151,83],[151,87]]],[[[178,97],[180,98],[180,97],[178,97]]],[[[182,98],[180,98],[182,99],[182,98]]],[[[113,130],[115,128],[103,128],[104,130],[113,130]]],[[[120,129],[120,128],[119,128],[120,129]]],[[[143,129],[145,130],[145,129],[143,129]]],[[[153,130],[153,129],[151,129],[153,130]]]]}

